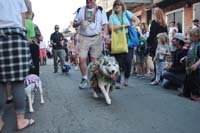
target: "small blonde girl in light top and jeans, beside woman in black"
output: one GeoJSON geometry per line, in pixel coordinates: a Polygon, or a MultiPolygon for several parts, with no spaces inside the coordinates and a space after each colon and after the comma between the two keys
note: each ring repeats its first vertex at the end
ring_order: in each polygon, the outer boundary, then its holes
{"type": "Polygon", "coordinates": [[[170,55],[169,39],[166,33],[159,33],[157,35],[158,46],[153,61],[156,64],[156,78],[151,85],[158,85],[160,82],[161,74],[166,65],[167,56],[170,55]]]}

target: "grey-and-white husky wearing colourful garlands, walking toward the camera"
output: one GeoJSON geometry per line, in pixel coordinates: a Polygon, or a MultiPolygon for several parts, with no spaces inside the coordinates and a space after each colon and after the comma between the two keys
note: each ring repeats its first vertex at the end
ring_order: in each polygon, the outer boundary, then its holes
{"type": "Polygon", "coordinates": [[[89,83],[93,88],[93,96],[103,93],[106,103],[111,104],[109,93],[115,84],[115,77],[119,73],[119,65],[114,57],[101,56],[95,62],[91,62],[87,68],[89,83]]]}

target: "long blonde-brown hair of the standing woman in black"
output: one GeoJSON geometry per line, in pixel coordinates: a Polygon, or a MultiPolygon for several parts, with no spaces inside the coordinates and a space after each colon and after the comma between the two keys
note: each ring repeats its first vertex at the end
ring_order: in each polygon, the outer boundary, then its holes
{"type": "Polygon", "coordinates": [[[166,27],[167,24],[165,22],[165,15],[163,10],[157,7],[154,9],[154,14],[155,14],[155,21],[158,22],[161,26],[166,27]]]}

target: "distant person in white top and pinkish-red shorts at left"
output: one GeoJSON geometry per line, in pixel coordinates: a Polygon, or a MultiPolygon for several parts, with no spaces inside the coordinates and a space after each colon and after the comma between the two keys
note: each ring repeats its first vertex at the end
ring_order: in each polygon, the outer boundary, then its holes
{"type": "Polygon", "coordinates": [[[46,43],[43,41],[43,36],[39,37],[40,43],[40,65],[46,65],[46,58],[47,58],[47,53],[46,53],[46,43]]]}

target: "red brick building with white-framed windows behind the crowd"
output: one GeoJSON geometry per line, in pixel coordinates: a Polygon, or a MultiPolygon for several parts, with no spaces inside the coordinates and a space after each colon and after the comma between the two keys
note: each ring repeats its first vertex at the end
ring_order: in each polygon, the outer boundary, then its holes
{"type": "MultiPolygon", "coordinates": [[[[97,0],[108,15],[111,13],[114,0],[97,0]]],[[[192,26],[192,20],[200,20],[200,0],[124,0],[127,9],[136,14],[141,22],[150,24],[155,7],[163,9],[166,22],[175,21],[182,31],[192,26]]]]}

